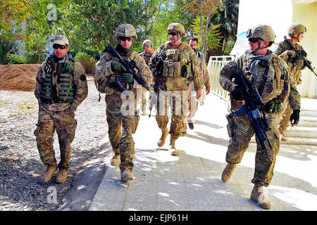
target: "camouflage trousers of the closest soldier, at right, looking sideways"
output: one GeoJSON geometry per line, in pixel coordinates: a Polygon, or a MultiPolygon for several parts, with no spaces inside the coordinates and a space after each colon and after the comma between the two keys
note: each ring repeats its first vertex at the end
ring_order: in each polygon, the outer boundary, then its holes
{"type": "MultiPolygon", "coordinates": [[[[271,127],[271,130],[267,131],[266,134],[268,134],[268,139],[271,141],[273,149],[263,150],[259,144],[259,140],[256,138],[256,162],[254,178],[251,182],[267,187],[273,178],[276,155],[278,155],[278,151],[280,150],[280,131],[278,130],[280,117],[278,113],[267,114],[266,117],[268,125],[271,127]]],[[[253,135],[254,130],[248,116],[244,114],[241,117],[235,117],[233,136],[230,139],[225,155],[226,162],[230,164],[240,163],[253,135]]]]}

